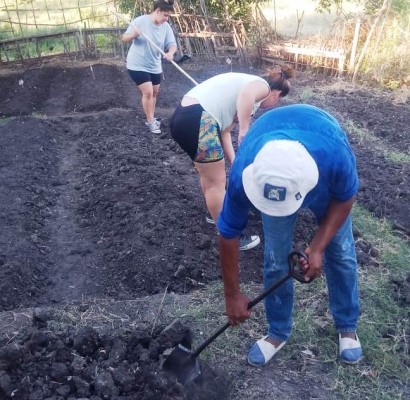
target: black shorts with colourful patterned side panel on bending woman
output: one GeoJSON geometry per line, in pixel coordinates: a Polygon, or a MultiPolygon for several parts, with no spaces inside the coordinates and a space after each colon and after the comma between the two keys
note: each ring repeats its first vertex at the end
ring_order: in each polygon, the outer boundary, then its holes
{"type": "Polygon", "coordinates": [[[219,125],[199,104],[179,105],[171,118],[170,129],[173,139],[192,161],[208,163],[224,158],[219,125]]]}

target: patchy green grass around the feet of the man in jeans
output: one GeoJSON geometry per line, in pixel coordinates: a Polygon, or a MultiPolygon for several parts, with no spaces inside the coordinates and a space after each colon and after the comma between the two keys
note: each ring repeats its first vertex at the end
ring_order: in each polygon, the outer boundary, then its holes
{"type": "MultiPolygon", "coordinates": [[[[355,228],[378,254],[379,266],[359,269],[362,315],[359,336],[364,359],[355,366],[339,362],[338,337],[328,310],[326,283],[323,278],[306,285],[295,282],[293,333],[283,348],[281,362],[302,366],[293,375],[309,372],[309,361],[326,365],[326,375],[340,399],[404,399],[403,387],[409,382],[408,307],[395,295],[396,283],[405,282],[410,260],[410,246],[395,236],[391,225],[374,218],[365,209],[355,206],[355,228]],[[306,369],[303,365],[307,365],[306,369]]],[[[241,286],[249,298],[261,293],[260,285],[241,286]]],[[[196,326],[194,347],[225,324],[223,286],[221,282],[206,286],[191,295],[188,321],[196,326]]],[[[185,310],[186,311],[186,310],[185,310]]],[[[237,328],[227,329],[202,354],[201,359],[221,360],[246,357],[249,346],[266,333],[262,304],[252,318],[237,328]]],[[[302,376],[302,375],[301,375],[302,376]]]]}

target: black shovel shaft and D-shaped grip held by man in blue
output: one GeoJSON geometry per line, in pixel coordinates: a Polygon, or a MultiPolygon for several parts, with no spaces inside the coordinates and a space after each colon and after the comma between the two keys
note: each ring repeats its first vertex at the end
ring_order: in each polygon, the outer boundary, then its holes
{"type": "MultiPolygon", "coordinates": [[[[261,302],[266,296],[271,294],[275,289],[277,289],[280,285],[282,285],[285,281],[289,278],[293,277],[301,283],[309,283],[312,282],[312,279],[309,281],[305,281],[304,279],[304,272],[299,268],[299,264],[297,259],[304,258],[307,260],[307,256],[305,253],[301,251],[292,251],[288,255],[288,273],[275,282],[272,286],[266,289],[263,293],[261,293],[258,297],[251,300],[248,303],[248,310],[253,308],[256,304],[261,302]],[[296,259],[295,259],[296,258],[296,259]]],[[[219,335],[221,335],[224,331],[226,331],[231,324],[227,322],[225,325],[221,326],[211,337],[209,337],[205,342],[203,342],[192,354],[193,357],[197,357],[209,344],[211,344],[219,335]]]]}

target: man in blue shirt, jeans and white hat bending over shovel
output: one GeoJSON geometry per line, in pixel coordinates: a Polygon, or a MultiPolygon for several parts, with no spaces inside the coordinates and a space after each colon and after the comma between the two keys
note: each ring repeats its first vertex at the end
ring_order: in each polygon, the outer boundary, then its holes
{"type": "MultiPolygon", "coordinates": [[[[241,293],[238,278],[238,238],[249,209],[254,206],[262,213],[268,288],[287,273],[298,210],[309,208],[319,227],[305,249],[308,260],[301,261],[306,280],[319,276],[323,264],[340,358],[348,364],[360,360],[357,260],[350,216],[358,186],[346,134],[325,111],[296,104],[268,111],[253,124],[237,152],[218,218],[226,312],[232,325],[250,317],[249,299],[241,293]]],[[[251,348],[251,365],[265,365],[285,345],[292,308],[290,279],[265,299],[268,332],[251,348]]]]}

